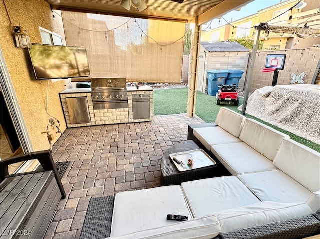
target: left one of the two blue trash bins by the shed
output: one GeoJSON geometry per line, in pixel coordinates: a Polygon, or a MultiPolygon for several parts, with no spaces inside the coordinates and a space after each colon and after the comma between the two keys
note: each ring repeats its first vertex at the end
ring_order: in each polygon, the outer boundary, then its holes
{"type": "Polygon", "coordinates": [[[225,84],[225,79],[228,77],[228,70],[208,70],[206,77],[208,80],[208,95],[216,95],[218,86],[225,84]]]}

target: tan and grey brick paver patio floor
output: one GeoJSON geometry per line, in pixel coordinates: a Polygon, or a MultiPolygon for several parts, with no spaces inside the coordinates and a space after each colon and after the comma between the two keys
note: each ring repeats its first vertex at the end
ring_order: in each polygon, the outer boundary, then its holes
{"type": "MultiPolygon", "coordinates": [[[[61,200],[45,239],[78,239],[91,197],[160,186],[160,161],[187,139],[186,114],[154,116],[151,122],[68,128],[52,148],[55,162],[70,161],[61,200]]],[[[97,229],[98,230],[98,229],[97,229]]]]}

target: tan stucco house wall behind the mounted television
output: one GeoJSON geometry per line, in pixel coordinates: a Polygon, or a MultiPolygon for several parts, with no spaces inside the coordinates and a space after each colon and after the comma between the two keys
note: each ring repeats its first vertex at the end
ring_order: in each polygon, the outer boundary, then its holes
{"type": "MultiPolygon", "coordinates": [[[[8,13],[5,10],[3,0],[0,1],[1,49],[33,149],[35,151],[45,150],[49,148],[49,141],[46,133],[41,132],[46,131],[49,118],[51,118],[47,112],[60,121],[62,131],[66,129],[58,94],[65,88],[65,80],[52,82],[51,80],[35,79],[28,50],[15,47],[12,26],[24,27],[30,35],[32,43],[42,43],[39,26],[62,35],[65,42],[62,20],[57,14],[55,14],[56,20],[53,20],[50,5],[44,0],[6,0],[5,4],[8,13]]],[[[56,128],[49,127],[49,130],[53,133],[53,142],[55,142],[60,134],[56,133],[56,128]]]]}

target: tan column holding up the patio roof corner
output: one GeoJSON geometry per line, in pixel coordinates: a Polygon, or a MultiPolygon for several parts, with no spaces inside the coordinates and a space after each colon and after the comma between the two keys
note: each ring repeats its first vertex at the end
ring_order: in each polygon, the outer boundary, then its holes
{"type": "Polygon", "coordinates": [[[199,55],[199,45],[201,38],[201,26],[198,25],[198,17],[192,20],[195,24],[194,34],[192,40],[192,48],[190,52],[190,66],[189,66],[189,77],[188,77],[188,101],[187,101],[187,116],[195,116],[195,102],[196,102],[196,86],[197,86],[197,68],[198,68],[198,55],[199,55]]]}

